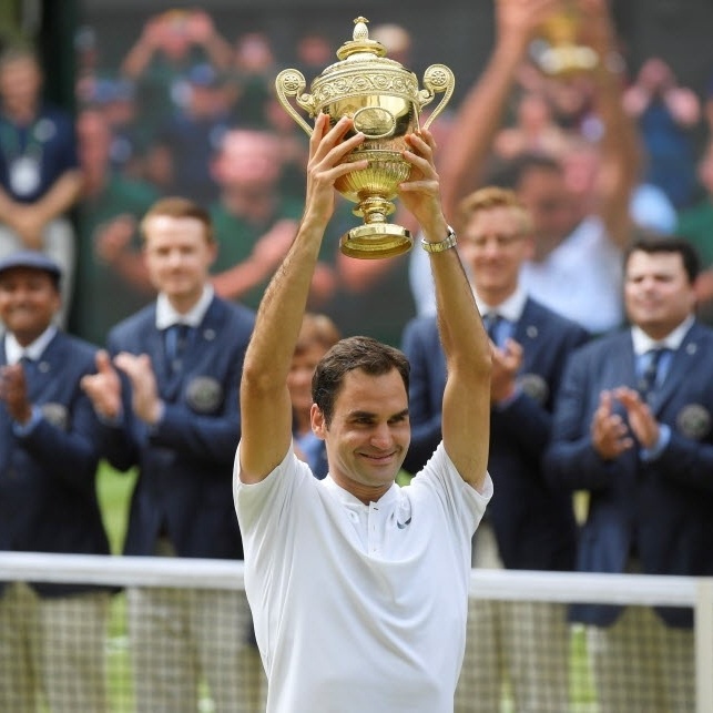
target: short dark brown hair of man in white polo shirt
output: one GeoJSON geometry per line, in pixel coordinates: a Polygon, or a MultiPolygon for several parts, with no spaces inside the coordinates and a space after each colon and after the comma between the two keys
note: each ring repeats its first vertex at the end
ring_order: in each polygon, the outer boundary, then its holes
{"type": "Polygon", "coordinates": [[[347,337],[337,342],[322,357],[312,377],[312,400],[329,426],[334,403],[347,373],[361,369],[369,376],[383,376],[396,369],[408,394],[409,364],[403,352],[371,337],[347,337]]]}

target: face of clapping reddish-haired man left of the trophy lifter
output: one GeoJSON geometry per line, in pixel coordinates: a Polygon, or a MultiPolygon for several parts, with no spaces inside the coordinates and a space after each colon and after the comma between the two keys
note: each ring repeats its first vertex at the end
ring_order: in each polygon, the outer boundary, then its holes
{"type": "Polygon", "coordinates": [[[194,217],[152,215],[144,224],[144,256],[153,286],[174,308],[187,312],[200,299],[216,246],[194,217]]]}

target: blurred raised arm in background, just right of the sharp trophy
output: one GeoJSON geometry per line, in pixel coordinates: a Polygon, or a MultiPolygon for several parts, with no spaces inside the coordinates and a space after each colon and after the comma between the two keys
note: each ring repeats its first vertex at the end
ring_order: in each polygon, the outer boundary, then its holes
{"type": "Polygon", "coordinates": [[[460,198],[477,187],[534,29],[559,1],[496,1],[495,48],[456,113],[440,157],[446,215],[456,215],[460,198]]]}

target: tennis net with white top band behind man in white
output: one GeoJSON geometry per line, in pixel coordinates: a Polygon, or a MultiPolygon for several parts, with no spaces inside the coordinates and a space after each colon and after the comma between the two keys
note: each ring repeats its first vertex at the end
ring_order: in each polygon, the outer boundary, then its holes
{"type": "MultiPolygon", "coordinates": [[[[0,552],[0,711],[265,710],[242,562],[0,552]]],[[[476,569],[455,710],[711,711],[712,592],[694,578],[476,569]],[[573,603],[622,609],[590,627],[573,603]],[[694,629],[663,624],[691,612],[694,629]]]]}

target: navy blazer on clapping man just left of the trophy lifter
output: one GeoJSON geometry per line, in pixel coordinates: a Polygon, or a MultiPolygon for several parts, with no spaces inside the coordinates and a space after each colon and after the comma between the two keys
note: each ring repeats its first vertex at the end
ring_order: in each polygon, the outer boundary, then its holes
{"type": "Polygon", "coordinates": [[[124,552],[152,554],[160,533],[180,557],[241,559],[232,473],[240,439],[238,390],[252,310],[214,297],[173,374],[155,303],[114,327],[109,352],[151,357],[164,416],[147,427],[124,394],[121,427],[105,429],[104,448],[119,470],[136,466],[124,552]]]}

